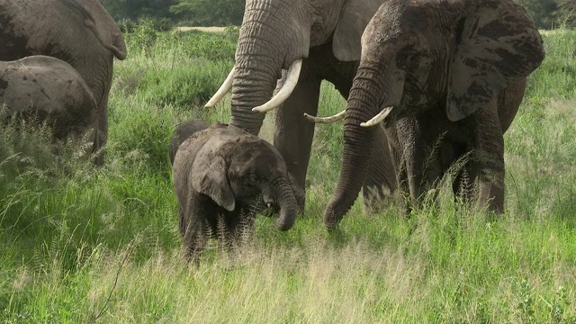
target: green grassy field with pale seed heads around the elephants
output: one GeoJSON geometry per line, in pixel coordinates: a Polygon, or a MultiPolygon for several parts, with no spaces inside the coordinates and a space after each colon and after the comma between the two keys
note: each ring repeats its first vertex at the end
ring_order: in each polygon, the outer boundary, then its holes
{"type": "MultiPolygon", "coordinates": [[[[209,245],[186,266],[167,144],[179,121],[228,121],[202,104],[233,65],[233,31],[126,35],[115,62],[106,166],[42,131],[0,130],[0,322],[576,323],[576,33],[545,35],[506,134],[506,213],[437,207],[366,214],[330,236],[342,125],[317,127],[306,217],[257,219],[239,256],[209,245]],[[17,153],[23,152],[23,153],[17,153]]],[[[320,113],[343,108],[322,85],[320,113]]],[[[266,119],[261,136],[270,139],[266,119]]]]}

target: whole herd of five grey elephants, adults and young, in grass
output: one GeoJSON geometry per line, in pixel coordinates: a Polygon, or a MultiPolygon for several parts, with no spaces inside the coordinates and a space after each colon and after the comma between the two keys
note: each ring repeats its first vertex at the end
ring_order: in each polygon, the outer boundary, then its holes
{"type": "MultiPolygon", "coordinates": [[[[113,58],[126,46],[100,2],[0,0],[0,40],[0,103],[35,104],[58,136],[92,128],[101,148],[113,58]]],[[[293,226],[319,122],[344,119],[329,230],[361,189],[367,205],[400,191],[410,211],[463,158],[455,196],[503,211],[503,134],[544,58],[513,0],[246,0],[235,65],[206,104],[231,91],[229,125],[184,122],[169,148],[187,257],[220,220],[232,240],[266,205],[278,229],[293,226]],[[347,99],[326,118],[323,80],[347,99]],[[274,146],[257,137],[273,109],[274,146]]]]}

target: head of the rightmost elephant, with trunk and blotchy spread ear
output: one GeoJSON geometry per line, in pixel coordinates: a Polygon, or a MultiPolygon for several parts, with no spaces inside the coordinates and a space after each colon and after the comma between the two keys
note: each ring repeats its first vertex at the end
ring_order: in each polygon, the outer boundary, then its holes
{"type": "Polygon", "coordinates": [[[433,107],[460,121],[528,76],[544,57],[540,34],[512,0],[384,3],[362,36],[338,186],[324,214],[327,227],[337,226],[365,177],[374,127],[363,126],[383,121],[390,127],[433,107]]]}

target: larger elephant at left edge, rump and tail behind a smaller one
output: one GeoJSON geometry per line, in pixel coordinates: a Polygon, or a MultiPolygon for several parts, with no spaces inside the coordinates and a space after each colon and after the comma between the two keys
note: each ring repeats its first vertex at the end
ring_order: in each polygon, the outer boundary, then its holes
{"type": "MultiPolygon", "coordinates": [[[[108,134],[113,58],[126,58],[121,31],[98,0],[0,0],[0,60],[46,55],[67,62],[98,103],[98,134],[108,134]]],[[[98,164],[103,164],[100,157],[98,164]]]]}

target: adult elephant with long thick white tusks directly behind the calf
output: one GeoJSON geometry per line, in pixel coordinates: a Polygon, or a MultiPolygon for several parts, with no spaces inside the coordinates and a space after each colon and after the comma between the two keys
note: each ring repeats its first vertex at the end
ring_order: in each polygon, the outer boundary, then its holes
{"type": "MultiPolygon", "coordinates": [[[[257,134],[266,110],[276,112],[274,144],[296,184],[304,190],[320,82],[348,96],[360,59],[360,38],[384,0],[247,0],[236,64],[207,106],[232,89],[229,124],[257,134]],[[272,98],[278,78],[280,88],[272,98]],[[271,99],[272,98],[272,99],[271,99]],[[253,112],[253,108],[257,112],[253,112]]],[[[383,133],[380,134],[383,138],[383,133]]],[[[376,170],[383,161],[374,155],[376,170]]],[[[378,189],[379,172],[366,186],[378,189]]],[[[366,190],[365,192],[370,192],[366,190]]],[[[303,202],[300,202],[303,208],[303,202]]]]}

